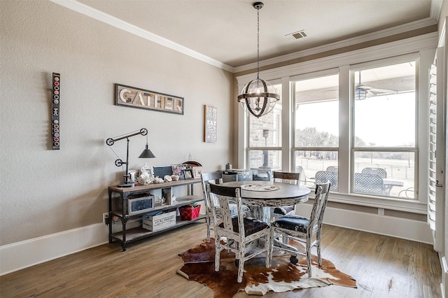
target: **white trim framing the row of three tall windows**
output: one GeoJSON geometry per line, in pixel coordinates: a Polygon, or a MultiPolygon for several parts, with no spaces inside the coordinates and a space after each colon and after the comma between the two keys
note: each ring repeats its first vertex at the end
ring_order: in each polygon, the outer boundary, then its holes
{"type": "MultiPolygon", "coordinates": [[[[350,94],[350,65],[360,64],[367,66],[370,62],[374,60],[385,59],[387,62],[388,59],[394,59],[395,56],[402,56],[403,58],[407,57],[406,55],[419,55],[420,59],[424,57],[425,59],[421,60],[421,67],[419,67],[418,71],[418,83],[417,90],[418,93],[418,129],[419,135],[422,136],[417,140],[417,147],[419,148],[419,189],[420,192],[417,194],[416,201],[406,201],[403,199],[393,199],[393,198],[380,198],[380,197],[367,197],[358,194],[349,194],[349,181],[341,180],[339,185],[339,192],[341,193],[333,193],[330,195],[330,200],[339,201],[346,204],[357,204],[363,206],[372,206],[378,208],[389,208],[393,210],[399,211],[408,211],[412,213],[426,213],[426,198],[427,196],[427,175],[423,173],[426,171],[427,166],[424,163],[428,159],[428,150],[425,141],[426,137],[426,123],[427,123],[427,111],[426,107],[428,104],[427,93],[425,86],[428,85],[428,78],[426,73],[423,73],[423,70],[428,69],[428,65],[426,65],[426,57],[431,57],[430,52],[434,52],[435,48],[437,48],[437,32],[433,32],[430,34],[424,34],[421,36],[415,36],[412,38],[407,38],[402,41],[394,41],[392,43],[386,43],[382,45],[376,45],[371,48],[365,48],[360,50],[355,50],[352,52],[346,52],[339,55],[334,55],[330,57],[323,57],[321,59],[315,59],[307,62],[302,62],[299,64],[291,64],[288,66],[281,66],[276,69],[269,69],[267,71],[260,72],[260,77],[264,80],[276,80],[281,78],[282,82],[282,90],[283,90],[283,99],[290,98],[290,80],[293,78],[300,76],[303,73],[312,73],[316,71],[330,71],[330,69],[339,68],[339,99],[342,97],[349,97],[350,94]],[[423,65],[424,64],[424,65],[423,65]],[[344,76],[342,76],[344,74],[344,76]],[[342,87],[341,87],[342,86],[342,87]],[[423,170],[422,170],[423,169],[423,170]],[[347,188],[347,189],[345,189],[347,188]]],[[[434,55],[432,55],[434,57],[434,55]]],[[[400,61],[399,59],[393,60],[400,61]]],[[[432,59],[430,60],[432,62],[432,59]]],[[[360,66],[357,65],[357,66],[360,66]]],[[[250,73],[244,76],[237,77],[238,90],[244,86],[249,80],[255,78],[255,73],[250,73]]],[[[283,100],[283,106],[288,106],[286,104],[286,100],[283,100]]],[[[349,104],[349,101],[341,101],[339,103],[342,105],[349,104]]],[[[341,105],[339,104],[339,105],[341,105]]],[[[282,115],[282,123],[283,123],[283,154],[282,154],[282,165],[283,169],[290,169],[290,164],[292,164],[293,160],[293,152],[290,148],[292,148],[292,137],[291,137],[291,129],[287,127],[291,127],[291,118],[290,115],[292,113],[286,114],[286,110],[290,109],[285,108],[282,115]],[[287,116],[286,116],[287,115],[287,116]],[[286,143],[285,143],[286,142],[286,143]]],[[[347,108],[346,106],[339,106],[339,108],[347,108]]],[[[239,165],[246,166],[246,132],[247,132],[247,122],[244,117],[244,111],[241,108],[238,108],[238,120],[239,120],[239,130],[238,130],[238,162],[239,165]]],[[[350,148],[349,148],[349,135],[347,132],[350,132],[351,124],[350,119],[347,120],[339,120],[339,162],[342,164],[349,164],[349,160],[343,160],[345,158],[349,158],[350,156],[350,148]],[[341,159],[342,158],[342,159],[341,159]]],[[[339,167],[339,178],[347,179],[349,177],[349,169],[348,166],[344,168],[339,167]],[[346,171],[346,175],[344,172],[346,171]]]]}

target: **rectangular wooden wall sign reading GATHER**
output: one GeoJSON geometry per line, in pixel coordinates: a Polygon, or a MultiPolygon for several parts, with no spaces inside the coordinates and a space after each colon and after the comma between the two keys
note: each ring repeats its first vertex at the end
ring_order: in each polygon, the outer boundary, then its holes
{"type": "Polygon", "coordinates": [[[116,106],[183,115],[183,97],[115,84],[116,106]]]}

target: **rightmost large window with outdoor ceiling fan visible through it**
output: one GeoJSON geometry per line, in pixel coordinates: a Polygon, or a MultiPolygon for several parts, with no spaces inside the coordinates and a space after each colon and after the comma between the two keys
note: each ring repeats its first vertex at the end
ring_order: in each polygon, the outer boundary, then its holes
{"type": "Polygon", "coordinates": [[[416,189],[415,73],[415,61],[352,71],[353,192],[414,199],[402,190],[416,189]]]}

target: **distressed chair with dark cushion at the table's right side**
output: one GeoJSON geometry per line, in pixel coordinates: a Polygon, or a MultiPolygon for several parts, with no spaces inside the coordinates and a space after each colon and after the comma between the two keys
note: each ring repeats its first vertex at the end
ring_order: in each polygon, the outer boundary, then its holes
{"type": "MultiPolygon", "coordinates": [[[[314,246],[317,249],[318,265],[322,265],[321,255],[321,231],[323,222],[323,213],[327,206],[328,194],[330,193],[330,181],[323,184],[316,185],[314,192],[313,208],[309,218],[304,218],[299,215],[285,215],[278,220],[271,223],[271,251],[269,258],[272,260],[272,251],[281,250],[290,253],[290,262],[297,264],[299,262],[297,255],[302,255],[307,258],[308,277],[311,277],[311,248],[314,246]],[[281,234],[282,241],[276,241],[275,237],[281,234]],[[290,246],[288,240],[293,239],[304,245],[304,251],[297,250],[297,248],[290,246]]],[[[269,263],[271,262],[269,260],[269,263]]]]}

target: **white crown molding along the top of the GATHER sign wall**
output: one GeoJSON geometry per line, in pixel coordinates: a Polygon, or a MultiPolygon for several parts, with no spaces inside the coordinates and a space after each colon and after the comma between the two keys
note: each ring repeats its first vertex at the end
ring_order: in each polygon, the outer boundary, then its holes
{"type": "Polygon", "coordinates": [[[179,45],[179,43],[174,43],[173,41],[170,41],[167,38],[163,38],[162,36],[158,36],[157,34],[151,33],[150,31],[141,29],[140,27],[137,27],[133,24],[118,19],[118,17],[113,17],[112,15],[104,13],[101,10],[97,10],[95,8],[87,6],[84,3],[80,3],[76,0],[50,0],[50,1],[57,3],[60,6],[64,6],[65,8],[74,10],[78,13],[82,13],[87,17],[92,17],[92,19],[94,20],[99,20],[100,22],[110,24],[113,27],[140,36],[141,38],[145,38],[148,41],[153,41],[154,43],[158,43],[177,52],[181,52],[184,55],[193,57],[207,64],[211,64],[220,69],[224,69],[225,71],[230,71],[231,73],[235,72],[235,69],[232,66],[224,64],[223,62],[220,62],[206,55],[202,55],[200,52],[196,52],[195,50],[186,48],[183,45],[179,45]]]}

